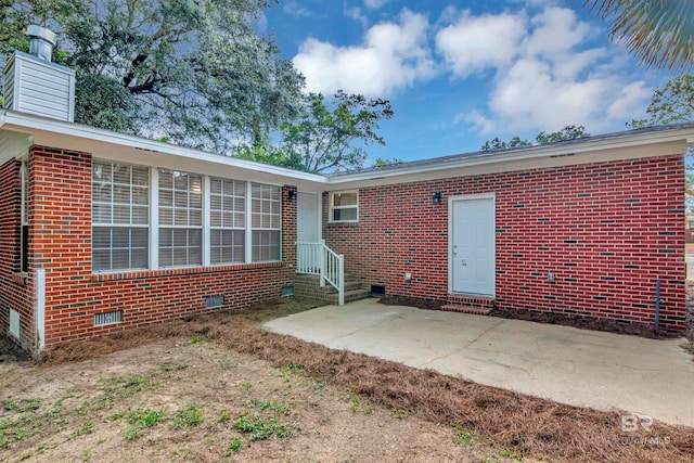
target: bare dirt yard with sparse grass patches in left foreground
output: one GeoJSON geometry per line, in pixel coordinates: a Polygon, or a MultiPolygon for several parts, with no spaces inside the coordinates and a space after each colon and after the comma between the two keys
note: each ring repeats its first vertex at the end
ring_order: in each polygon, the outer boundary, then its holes
{"type": "Polygon", "coordinates": [[[47,364],[9,350],[2,462],[507,460],[450,426],[204,335],[47,364]]]}

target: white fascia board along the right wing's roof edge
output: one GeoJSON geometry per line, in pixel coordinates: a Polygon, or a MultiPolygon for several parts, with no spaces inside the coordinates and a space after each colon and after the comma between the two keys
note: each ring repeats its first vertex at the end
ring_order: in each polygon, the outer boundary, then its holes
{"type": "MultiPolygon", "coordinates": [[[[427,173],[441,171],[446,172],[451,169],[461,169],[467,167],[485,166],[490,164],[517,163],[519,160],[532,160],[542,158],[563,158],[566,157],[566,165],[577,164],[577,157],[589,155],[599,151],[624,150],[624,158],[633,157],[627,149],[654,145],[661,143],[682,142],[685,143],[694,138],[694,129],[668,130],[661,132],[647,132],[637,136],[625,134],[611,139],[589,140],[586,142],[577,142],[570,144],[525,147],[518,150],[503,151],[502,153],[489,152],[480,155],[460,157],[450,160],[436,162],[433,159],[430,164],[400,167],[393,170],[375,170],[369,172],[347,173],[327,179],[330,185],[339,187],[346,183],[355,184],[360,181],[385,180],[389,179],[389,183],[397,182],[396,178],[413,176],[417,173],[427,173]]],[[[671,154],[671,153],[664,153],[671,154]]],[[[503,169],[501,170],[503,171],[503,169]]],[[[437,176],[439,177],[439,176],[437,176]]],[[[440,178],[445,178],[441,176],[440,178]]]]}

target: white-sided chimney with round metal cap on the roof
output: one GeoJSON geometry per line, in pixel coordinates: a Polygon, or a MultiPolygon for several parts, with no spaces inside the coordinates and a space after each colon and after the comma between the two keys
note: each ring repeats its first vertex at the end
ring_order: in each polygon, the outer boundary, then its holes
{"type": "Polygon", "coordinates": [[[30,53],[15,51],[4,68],[3,107],[75,120],[75,70],[51,62],[55,34],[27,27],[30,53]]]}

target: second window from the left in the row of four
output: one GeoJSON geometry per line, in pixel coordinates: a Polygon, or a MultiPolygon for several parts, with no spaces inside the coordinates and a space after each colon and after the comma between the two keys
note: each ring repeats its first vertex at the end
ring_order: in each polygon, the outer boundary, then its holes
{"type": "Polygon", "coordinates": [[[203,178],[159,169],[159,267],[203,265],[203,178]]]}

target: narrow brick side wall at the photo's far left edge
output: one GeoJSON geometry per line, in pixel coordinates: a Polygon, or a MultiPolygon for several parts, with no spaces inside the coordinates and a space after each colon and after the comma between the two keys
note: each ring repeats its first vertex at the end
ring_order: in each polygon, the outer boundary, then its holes
{"type": "MultiPolygon", "coordinates": [[[[18,160],[0,167],[0,330],[8,333],[10,309],[20,313],[20,339],[25,349],[34,344],[34,285],[20,274],[20,224],[22,220],[18,160]]],[[[30,214],[30,211],[29,211],[30,214]]]]}

